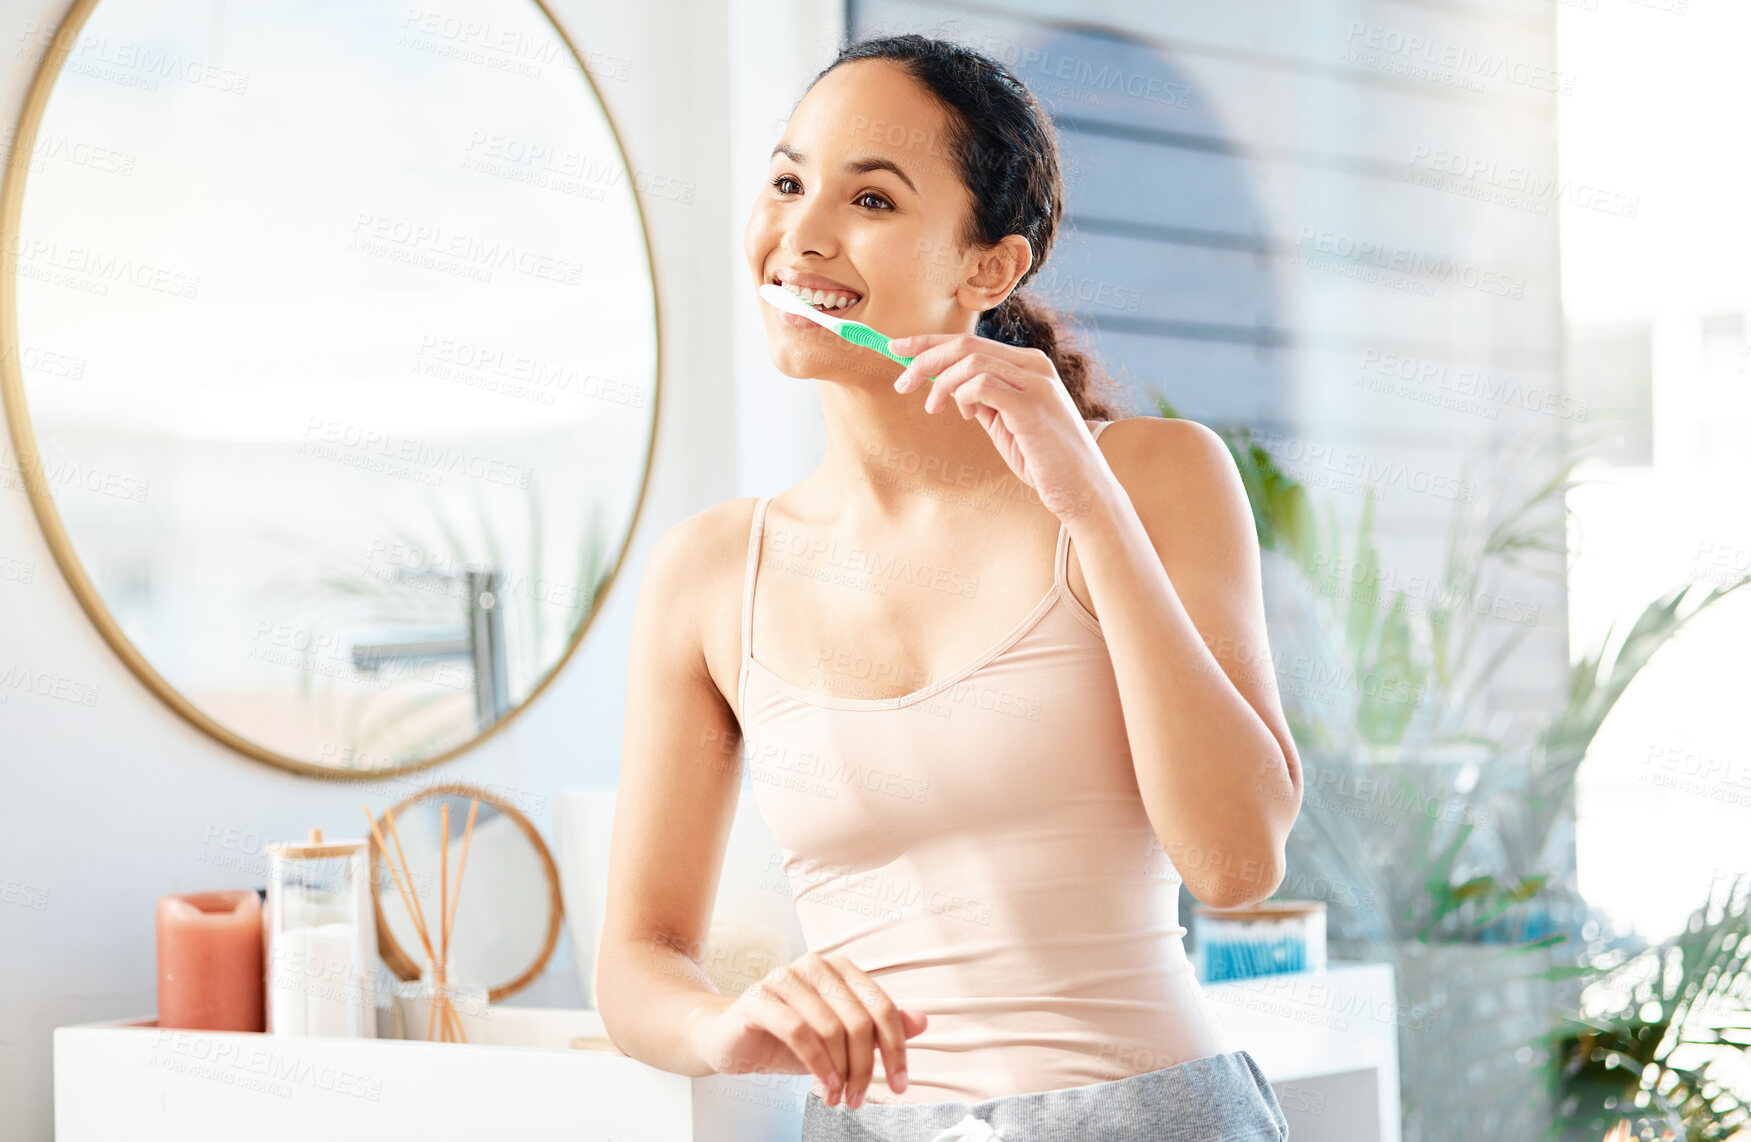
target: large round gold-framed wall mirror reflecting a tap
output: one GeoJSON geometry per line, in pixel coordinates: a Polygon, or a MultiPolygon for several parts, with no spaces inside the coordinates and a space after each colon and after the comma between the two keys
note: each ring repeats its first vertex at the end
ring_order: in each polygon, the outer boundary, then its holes
{"type": "Polygon", "coordinates": [[[0,471],[103,638],[301,772],[501,727],[588,627],[655,438],[594,79],[625,61],[529,0],[79,0],[21,51],[0,471]]]}

